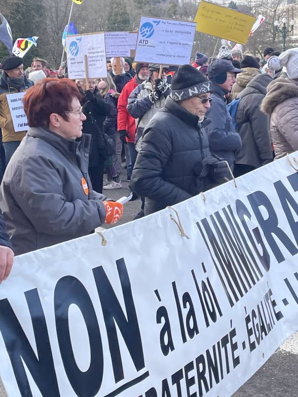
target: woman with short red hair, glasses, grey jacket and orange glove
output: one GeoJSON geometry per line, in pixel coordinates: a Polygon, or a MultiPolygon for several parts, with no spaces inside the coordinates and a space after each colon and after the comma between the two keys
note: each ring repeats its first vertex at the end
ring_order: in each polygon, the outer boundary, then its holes
{"type": "Polygon", "coordinates": [[[30,127],[13,154],[0,191],[0,207],[15,254],[23,254],[116,223],[120,203],[104,201],[88,175],[90,135],[80,92],[67,78],[45,78],[27,91],[30,127]]]}

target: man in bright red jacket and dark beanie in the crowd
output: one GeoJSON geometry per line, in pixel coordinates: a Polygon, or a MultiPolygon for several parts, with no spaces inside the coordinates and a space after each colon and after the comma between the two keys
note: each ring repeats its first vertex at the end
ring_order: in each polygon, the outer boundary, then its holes
{"type": "MultiPolygon", "coordinates": [[[[117,153],[117,144],[119,146],[120,142],[120,150],[121,150],[121,142],[125,145],[127,144],[129,148],[131,164],[127,168],[128,180],[131,179],[132,169],[135,165],[135,161],[137,158],[137,152],[135,149],[135,135],[136,135],[136,123],[135,119],[130,115],[127,110],[127,103],[130,94],[133,90],[143,81],[148,79],[149,69],[148,64],[137,63],[136,65],[136,75],[132,78],[123,88],[120,97],[118,99],[118,115],[117,115],[117,128],[118,128],[118,136],[116,134],[116,153],[117,153]]],[[[117,168],[120,168],[121,171],[121,159],[117,159],[117,168]]],[[[117,171],[118,172],[118,171],[117,171]]]]}

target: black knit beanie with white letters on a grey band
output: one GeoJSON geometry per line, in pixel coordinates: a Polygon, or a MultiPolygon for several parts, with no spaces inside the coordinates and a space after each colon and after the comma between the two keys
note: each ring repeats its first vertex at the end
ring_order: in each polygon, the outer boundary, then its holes
{"type": "Polygon", "coordinates": [[[175,72],[170,92],[174,101],[184,101],[206,92],[210,92],[210,81],[195,67],[182,65],[175,72]]]}

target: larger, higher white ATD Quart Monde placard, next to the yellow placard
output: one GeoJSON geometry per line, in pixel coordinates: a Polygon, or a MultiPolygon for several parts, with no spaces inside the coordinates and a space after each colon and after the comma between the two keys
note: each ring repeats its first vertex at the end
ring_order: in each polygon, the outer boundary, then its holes
{"type": "Polygon", "coordinates": [[[142,16],[136,62],[184,65],[190,61],[196,22],[142,16]]]}

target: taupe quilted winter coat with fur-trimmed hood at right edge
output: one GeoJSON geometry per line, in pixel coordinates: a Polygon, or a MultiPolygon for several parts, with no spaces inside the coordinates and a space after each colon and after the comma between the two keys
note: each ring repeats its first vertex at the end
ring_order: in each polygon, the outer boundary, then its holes
{"type": "Polygon", "coordinates": [[[270,117],[276,158],[298,150],[298,81],[279,78],[267,87],[261,109],[270,117]]]}

